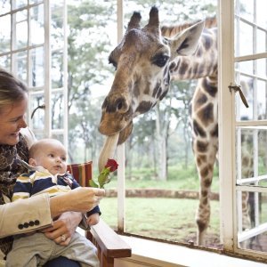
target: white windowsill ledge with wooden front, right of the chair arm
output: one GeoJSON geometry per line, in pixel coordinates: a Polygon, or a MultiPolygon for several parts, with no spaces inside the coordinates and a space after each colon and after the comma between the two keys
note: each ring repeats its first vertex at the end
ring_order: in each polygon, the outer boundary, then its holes
{"type": "Polygon", "coordinates": [[[115,266],[190,266],[190,267],[266,267],[265,263],[256,263],[244,259],[220,255],[196,248],[182,247],[148,239],[120,236],[132,247],[132,257],[116,260],[115,266]]]}

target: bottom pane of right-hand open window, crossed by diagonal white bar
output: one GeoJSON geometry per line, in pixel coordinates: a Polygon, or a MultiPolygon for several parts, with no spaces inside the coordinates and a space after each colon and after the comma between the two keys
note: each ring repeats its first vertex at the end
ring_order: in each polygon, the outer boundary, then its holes
{"type": "Polygon", "coordinates": [[[267,194],[239,191],[237,200],[239,207],[239,247],[266,252],[267,194]]]}

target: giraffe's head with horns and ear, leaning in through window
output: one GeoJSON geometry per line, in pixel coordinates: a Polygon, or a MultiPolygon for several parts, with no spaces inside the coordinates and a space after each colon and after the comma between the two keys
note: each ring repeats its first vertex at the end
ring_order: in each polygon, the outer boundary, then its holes
{"type": "Polygon", "coordinates": [[[177,56],[196,51],[204,27],[201,21],[172,38],[163,37],[156,7],[151,8],[145,27],[140,27],[140,21],[140,13],[134,12],[121,43],[109,54],[109,62],[117,71],[102,104],[99,130],[108,136],[119,134],[118,144],[131,134],[133,118],[166,96],[170,63],[177,56]]]}

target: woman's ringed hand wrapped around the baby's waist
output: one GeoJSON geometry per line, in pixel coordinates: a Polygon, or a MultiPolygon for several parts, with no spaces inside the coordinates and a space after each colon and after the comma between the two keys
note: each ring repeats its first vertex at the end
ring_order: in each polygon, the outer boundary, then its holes
{"type": "Polygon", "coordinates": [[[53,227],[46,228],[43,232],[47,239],[67,247],[78,224],[82,220],[82,214],[77,212],[66,212],[53,222],[53,227]]]}

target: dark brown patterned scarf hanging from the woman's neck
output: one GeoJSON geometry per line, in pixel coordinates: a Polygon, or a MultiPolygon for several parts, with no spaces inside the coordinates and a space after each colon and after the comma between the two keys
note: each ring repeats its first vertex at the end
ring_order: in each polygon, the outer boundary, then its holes
{"type": "MultiPolygon", "coordinates": [[[[18,159],[28,161],[28,145],[20,134],[20,141],[15,145],[0,145],[0,205],[4,205],[3,194],[12,198],[13,187],[17,177],[27,169],[21,166],[18,159]]],[[[12,248],[12,237],[0,239],[0,249],[4,255],[12,248]]]]}

